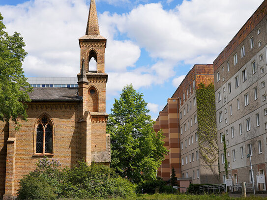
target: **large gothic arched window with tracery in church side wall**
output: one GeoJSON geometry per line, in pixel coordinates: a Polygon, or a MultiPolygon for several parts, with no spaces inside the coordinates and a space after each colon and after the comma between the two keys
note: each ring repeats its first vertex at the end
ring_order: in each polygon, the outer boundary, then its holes
{"type": "Polygon", "coordinates": [[[53,128],[47,116],[42,116],[36,126],[36,153],[52,153],[53,128]]]}

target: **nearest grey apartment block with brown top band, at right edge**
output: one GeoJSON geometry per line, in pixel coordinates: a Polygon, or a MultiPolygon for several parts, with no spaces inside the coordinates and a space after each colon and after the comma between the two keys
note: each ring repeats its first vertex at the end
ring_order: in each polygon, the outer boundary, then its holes
{"type": "MultiPolygon", "coordinates": [[[[214,60],[221,181],[256,182],[267,170],[267,1],[214,60]],[[224,141],[227,152],[224,154],[224,141]],[[251,155],[252,168],[249,158],[251,155]],[[228,177],[225,172],[228,162],[228,177]],[[249,157],[249,155],[248,155],[249,157]]],[[[266,185],[258,185],[266,190],[266,185]]]]}

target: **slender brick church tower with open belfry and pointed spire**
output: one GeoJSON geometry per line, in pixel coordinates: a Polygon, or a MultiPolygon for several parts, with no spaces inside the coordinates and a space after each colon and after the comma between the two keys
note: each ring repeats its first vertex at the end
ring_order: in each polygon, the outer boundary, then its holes
{"type": "Polygon", "coordinates": [[[86,162],[110,163],[110,136],[106,134],[105,49],[107,39],[100,35],[95,0],[91,0],[86,34],[79,38],[81,62],[78,74],[80,108],[80,152],[86,162]]]}

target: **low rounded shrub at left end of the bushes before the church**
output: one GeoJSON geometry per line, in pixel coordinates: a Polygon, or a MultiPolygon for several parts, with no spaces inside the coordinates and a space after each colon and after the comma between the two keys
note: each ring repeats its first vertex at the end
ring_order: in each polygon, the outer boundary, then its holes
{"type": "Polygon", "coordinates": [[[28,174],[20,180],[19,200],[55,200],[56,189],[42,176],[28,174]]]}

